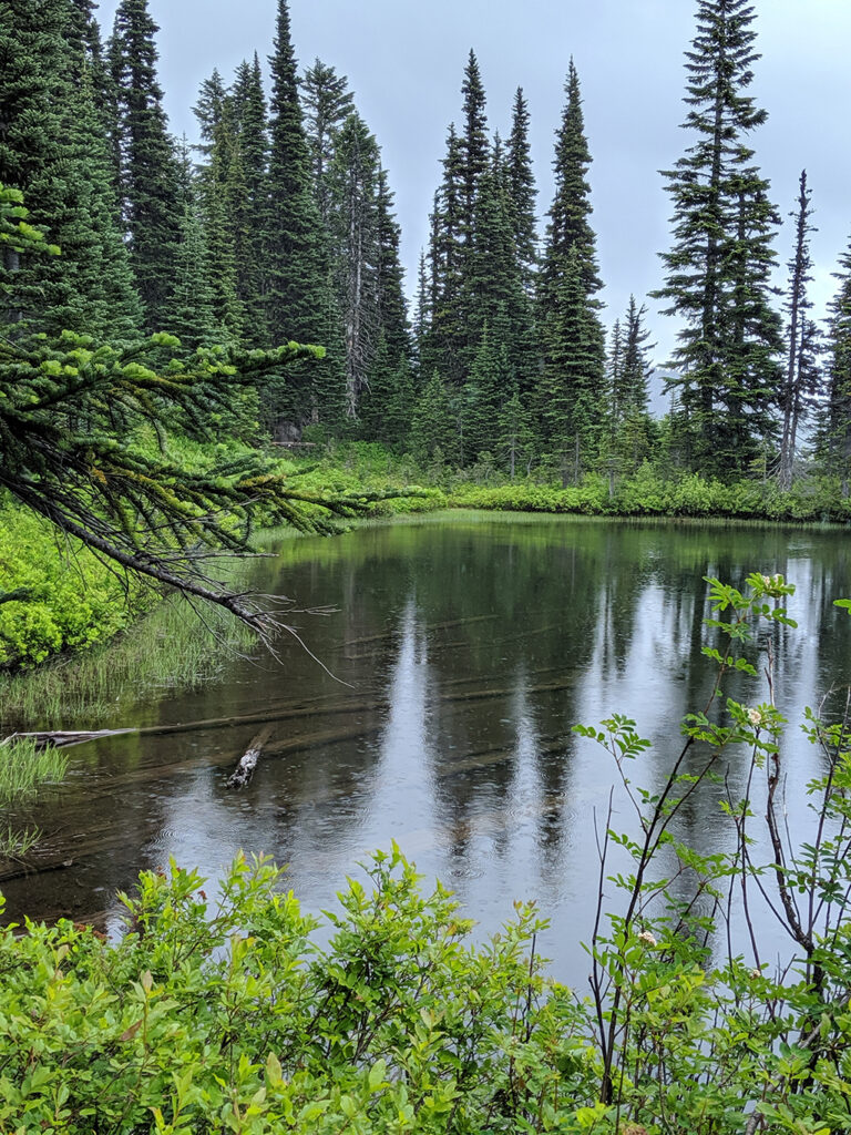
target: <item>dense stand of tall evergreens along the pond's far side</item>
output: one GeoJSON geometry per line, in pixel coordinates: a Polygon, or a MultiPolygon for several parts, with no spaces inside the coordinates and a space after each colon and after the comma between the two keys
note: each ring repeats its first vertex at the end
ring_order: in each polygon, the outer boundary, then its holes
{"type": "Polygon", "coordinates": [[[421,464],[563,485],[649,462],[787,488],[821,468],[848,493],[851,253],[819,326],[802,171],[787,286],[772,286],[782,209],[753,149],[766,111],[749,93],[759,56],[744,0],[699,0],[686,52],[684,151],[664,175],[672,243],[654,296],[681,327],[660,420],[643,297],[604,322],[572,61],[540,226],[523,91],[507,137],[491,134],[470,52],[408,311],[380,146],[345,76],[320,60],[300,72],[284,0],[268,62],[255,53],[202,84],[196,146],[169,134],[145,0],[123,0],[106,43],[92,0],[0,7],[0,182],[23,191],[62,253],[7,249],[8,335],[167,331],[186,359],[325,346],[321,361],[266,370],[217,406],[221,436],[377,440],[421,464]]]}

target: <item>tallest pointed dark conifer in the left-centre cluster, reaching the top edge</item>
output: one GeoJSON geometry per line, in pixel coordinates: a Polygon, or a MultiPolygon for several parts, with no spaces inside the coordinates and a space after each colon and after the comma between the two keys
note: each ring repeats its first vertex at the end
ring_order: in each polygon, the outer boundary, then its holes
{"type": "Polygon", "coordinates": [[[313,195],[310,151],[302,125],[289,9],[278,0],[275,51],[270,58],[269,213],[266,226],[266,304],[273,343],[318,343],[323,362],[293,368],[285,385],[270,386],[271,419],[303,423],[336,414],[342,397],[340,326],[331,287],[326,236],[313,195]]]}

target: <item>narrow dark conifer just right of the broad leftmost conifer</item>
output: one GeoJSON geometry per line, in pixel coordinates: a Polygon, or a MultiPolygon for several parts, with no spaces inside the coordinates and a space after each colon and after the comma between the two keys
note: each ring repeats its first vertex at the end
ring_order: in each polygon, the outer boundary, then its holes
{"type": "Polygon", "coordinates": [[[157,78],[159,28],[148,0],[121,0],[112,32],[121,212],[145,322],[161,320],[179,244],[177,162],[157,78]]]}

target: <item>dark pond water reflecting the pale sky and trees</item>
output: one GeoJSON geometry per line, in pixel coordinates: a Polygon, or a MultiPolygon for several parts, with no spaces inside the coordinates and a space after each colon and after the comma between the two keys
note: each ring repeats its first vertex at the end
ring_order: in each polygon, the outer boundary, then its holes
{"type": "MultiPolygon", "coordinates": [[[[121,721],[209,725],[70,750],[69,782],[28,814],[47,833],[39,861],[53,869],[0,883],[7,916],[106,913],[116,926],[115,892],[141,868],[174,856],[214,877],[239,848],[288,864],[296,894],[318,910],[395,839],[487,931],[514,899],[538,900],[553,922],[544,952],[576,977],[596,897],[595,816],[614,772],[571,726],[634,717],[654,749],[633,779],[660,783],[680,718],[702,707],[713,680],[699,653],[701,577],[743,582],[749,571],[798,587],[799,629],[776,641],[776,698],[794,721],[851,674],[851,621],[833,606],[851,595],[850,566],[837,531],[568,518],[456,514],[287,541],[258,586],[338,608],[297,622],[348,686],[285,645],[280,665],[234,658],[204,689],[152,697],[121,721]],[[253,783],[228,791],[267,721],[253,783]]],[[[764,699],[749,679],[730,692],[764,699]]],[[[794,801],[819,758],[790,737],[794,801]]],[[[733,783],[744,768],[733,755],[733,783]]],[[[622,806],[618,819],[630,823],[622,806]]],[[[717,789],[692,801],[682,831],[701,850],[730,844],[717,789]]]]}

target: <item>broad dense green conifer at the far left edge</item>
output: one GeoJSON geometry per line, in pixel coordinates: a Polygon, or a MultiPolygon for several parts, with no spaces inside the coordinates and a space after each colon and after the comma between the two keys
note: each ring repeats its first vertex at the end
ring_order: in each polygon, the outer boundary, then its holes
{"type": "Polygon", "coordinates": [[[66,0],[0,3],[0,182],[24,191],[65,253],[20,263],[5,249],[0,286],[15,270],[17,308],[8,319],[35,320],[47,333],[127,336],[137,312],[93,103],[86,26],[66,0]]]}

